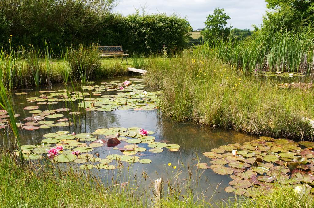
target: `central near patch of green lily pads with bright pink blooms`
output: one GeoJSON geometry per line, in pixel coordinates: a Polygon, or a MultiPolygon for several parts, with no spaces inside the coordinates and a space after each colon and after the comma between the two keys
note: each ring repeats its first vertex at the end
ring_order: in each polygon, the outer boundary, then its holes
{"type": "MultiPolygon", "coordinates": [[[[138,127],[102,128],[97,129],[93,133],[79,134],[71,134],[69,131],[57,131],[44,134],[41,145],[23,145],[21,148],[25,159],[35,160],[47,156],[52,162],[56,163],[74,162],[80,164],[79,168],[82,170],[92,168],[115,169],[116,166],[110,164],[113,161],[127,162],[128,164],[137,162],[149,164],[152,162],[151,159],[140,158],[140,156],[145,156],[145,152],[150,154],[160,153],[164,151],[163,148],[170,151],[172,149],[179,150],[180,145],[178,144],[155,142],[155,137],[151,134],[154,134],[154,132],[138,127]],[[142,135],[143,132],[145,133],[144,135],[142,135]],[[96,138],[101,136],[106,139],[96,138]],[[112,139],[116,139],[118,143],[109,142],[112,139]],[[100,159],[99,153],[95,152],[97,148],[103,148],[103,146],[114,147],[120,143],[122,143],[123,148],[112,148],[118,153],[106,155],[106,159],[100,159]]],[[[17,156],[19,155],[17,150],[14,150],[14,152],[17,156]]],[[[121,165],[122,163],[119,164],[121,165]]]]}

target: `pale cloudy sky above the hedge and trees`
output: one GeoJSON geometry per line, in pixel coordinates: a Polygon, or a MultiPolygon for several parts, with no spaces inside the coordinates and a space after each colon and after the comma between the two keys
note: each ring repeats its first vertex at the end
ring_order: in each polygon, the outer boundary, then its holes
{"type": "MultiPolygon", "coordinates": [[[[146,13],[176,13],[187,18],[193,29],[204,28],[208,14],[216,7],[225,8],[230,16],[228,24],[238,29],[253,29],[262,23],[266,11],[264,0],[117,0],[114,11],[123,15],[135,13],[135,8],[145,8],[146,13]]],[[[142,11],[140,9],[140,11],[142,11]]]]}

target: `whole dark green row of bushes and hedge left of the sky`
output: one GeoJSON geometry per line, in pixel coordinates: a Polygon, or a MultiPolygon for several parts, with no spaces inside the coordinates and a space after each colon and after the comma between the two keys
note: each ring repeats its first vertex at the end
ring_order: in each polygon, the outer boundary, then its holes
{"type": "Polygon", "coordinates": [[[192,28],[173,14],[123,16],[112,13],[116,0],[0,0],[0,48],[78,44],[122,45],[130,53],[171,52],[188,46],[192,28]]]}

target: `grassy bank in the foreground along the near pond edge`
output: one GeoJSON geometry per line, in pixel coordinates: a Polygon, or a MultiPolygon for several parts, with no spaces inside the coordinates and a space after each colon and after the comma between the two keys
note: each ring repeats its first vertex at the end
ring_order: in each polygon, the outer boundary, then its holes
{"type": "MultiPolygon", "coordinates": [[[[150,189],[142,188],[139,178],[136,183],[133,178],[122,180],[122,177],[116,177],[113,184],[117,185],[108,185],[100,180],[97,173],[70,165],[65,168],[42,161],[41,164],[21,166],[14,156],[3,151],[0,159],[1,207],[154,207],[154,195],[149,194],[150,189]],[[130,182],[120,184],[127,180],[130,182]]],[[[310,197],[301,197],[289,187],[275,187],[272,194],[265,196],[261,193],[253,199],[240,196],[235,200],[217,202],[197,196],[194,192],[180,193],[176,186],[169,181],[166,183],[166,192],[159,207],[292,208],[314,205],[310,197]]]]}

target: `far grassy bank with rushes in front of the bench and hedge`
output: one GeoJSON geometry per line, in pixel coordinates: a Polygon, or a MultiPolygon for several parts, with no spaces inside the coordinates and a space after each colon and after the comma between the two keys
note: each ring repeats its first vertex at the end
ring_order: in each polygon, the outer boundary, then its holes
{"type": "Polygon", "coordinates": [[[134,57],[128,64],[122,58],[100,58],[98,52],[89,47],[66,48],[54,52],[45,45],[45,50],[18,48],[0,50],[0,78],[8,89],[67,83],[70,79],[82,83],[106,77],[127,74],[127,67],[143,69],[149,59],[134,57]]]}

